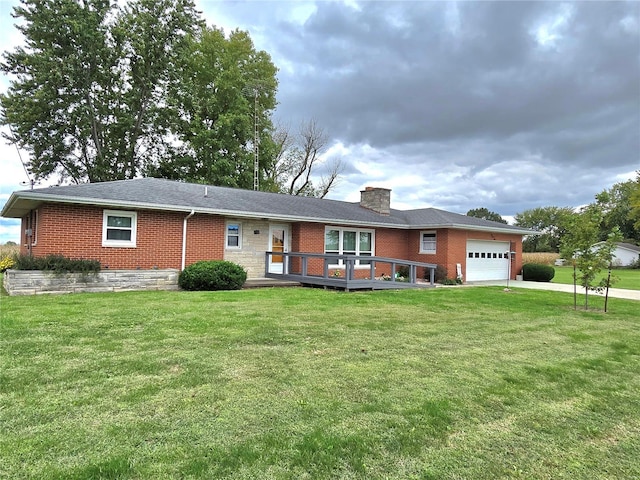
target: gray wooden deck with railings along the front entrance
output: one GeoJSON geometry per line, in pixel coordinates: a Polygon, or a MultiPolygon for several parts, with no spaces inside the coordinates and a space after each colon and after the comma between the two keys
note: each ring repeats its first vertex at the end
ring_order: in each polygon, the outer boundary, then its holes
{"type": "Polygon", "coordinates": [[[266,252],[265,278],[296,282],[304,286],[336,288],[350,290],[397,290],[404,288],[434,287],[436,265],[413,262],[398,258],[372,257],[363,255],[335,255],[300,252],[266,252]],[[269,269],[272,259],[282,259],[282,272],[269,269]],[[310,273],[310,262],[315,262],[314,273],[310,273]],[[318,262],[322,264],[322,273],[318,274],[318,262]],[[406,277],[399,276],[404,267],[406,277]],[[430,272],[428,283],[417,278],[417,269],[425,268],[430,272]],[[376,272],[378,271],[378,276],[376,272]],[[380,271],[389,274],[380,274],[380,271]],[[337,273],[336,273],[337,272],[337,273]]]}

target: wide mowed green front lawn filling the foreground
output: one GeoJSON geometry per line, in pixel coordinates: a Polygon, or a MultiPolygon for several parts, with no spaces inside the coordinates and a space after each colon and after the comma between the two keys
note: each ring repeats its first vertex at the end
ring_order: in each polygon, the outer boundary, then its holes
{"type": "Polygon", "coordinates": [[[638,302],[474,287],[0,308],[2,478],[640,477],[638,302]]]}

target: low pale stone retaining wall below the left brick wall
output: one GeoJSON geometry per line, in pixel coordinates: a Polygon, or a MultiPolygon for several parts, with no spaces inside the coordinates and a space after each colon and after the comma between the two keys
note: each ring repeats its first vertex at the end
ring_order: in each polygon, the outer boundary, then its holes
{"type": "Polygon", "coordinates": [[[102,270],[84,274],[7,270],[4,273],[4,288],[9,295],[177,290],[179,273],[174,269],[102,270]]]}

